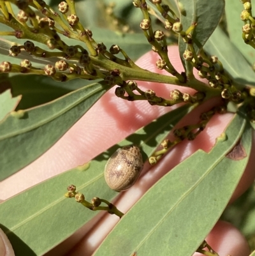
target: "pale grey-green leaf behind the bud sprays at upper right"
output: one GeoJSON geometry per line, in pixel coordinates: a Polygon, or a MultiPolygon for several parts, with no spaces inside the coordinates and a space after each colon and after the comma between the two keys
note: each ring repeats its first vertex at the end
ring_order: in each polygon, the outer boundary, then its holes
{"type": "Polygon", "coordinates": [[[224,69],[235,82],[244,86],[255,86],[255,73],[251,65],[247,63],[244,56],[242,56],[237,47],[231,43],[228,36],[226,36],[220,27],[215,29],[214,33],[205,44],[204,49],[209,52],[209,54],[219,58],[224,69]]]}

